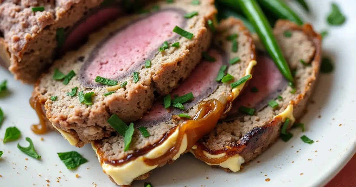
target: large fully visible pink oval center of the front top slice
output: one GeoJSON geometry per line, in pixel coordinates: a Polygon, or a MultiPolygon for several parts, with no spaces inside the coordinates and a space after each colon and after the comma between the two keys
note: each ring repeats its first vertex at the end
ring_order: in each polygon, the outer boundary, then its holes
{"type": "MultiPolygon", "coordinates": [[[[172,10],[157,12],[125,27],[107,40],[85,72],[88,80],[96,76],[115,79],[130,71],[134,64],[142,63],[164,41],[176,36],[174,26],[182,27],[183,16],[172,10]]],[[[137,66],[136,66],[137,67],[137,66]]]]}

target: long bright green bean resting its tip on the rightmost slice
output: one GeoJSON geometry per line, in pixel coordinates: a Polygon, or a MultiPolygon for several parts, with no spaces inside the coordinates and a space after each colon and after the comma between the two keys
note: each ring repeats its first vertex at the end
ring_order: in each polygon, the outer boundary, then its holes
{"type": "Polygon", "coordinates": [[[256,0],[235,0],[236,6],[240,6],[247,19],[255,27],[262,44],[265,46],[269,56],[273,59],[279,71],[290,82],[293,82],[292,73],[284,59],[281,49],[277,45],[276,38],[272,34],[272,28],[269,25],[266,16],[256,0]]]}

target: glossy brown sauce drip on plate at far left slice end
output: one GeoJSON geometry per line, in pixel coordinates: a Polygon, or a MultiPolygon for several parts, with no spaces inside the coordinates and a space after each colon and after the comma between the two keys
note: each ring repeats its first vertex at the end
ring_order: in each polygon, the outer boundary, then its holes
{"type": "Polygon", "coordinates": [[[31,107],[36,111],[38,115],[38,119],[40,119],[39,124],[34,124],[31,125],[31,130],[35,134],[45,134],[48,132],[47,126],[46,126],[46,115],[43,112],[43,105],[40,102],[40,99],[36,96],[32,96],[30,98],[30,105],[31,107]]]}

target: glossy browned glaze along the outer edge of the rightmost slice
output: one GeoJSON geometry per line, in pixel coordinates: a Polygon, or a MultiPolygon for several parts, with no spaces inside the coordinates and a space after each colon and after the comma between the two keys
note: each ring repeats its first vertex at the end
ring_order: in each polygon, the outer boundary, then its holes
{"type": "MultiPolygon", "coordinates": [[[[315,79],[319,74],[319,65],[321,60],[321,36],[313,30],[313,27],[309,24],[304,24],[303,26],[298,26],[287,20],[279,20],[276,24],[276,27],[288,26],[290,30],[299,30],[303,31],[309,38],[310,41],[313,41],[316,51],[314,59],[312,60],[313,71],[315,77],[310,78],[308,83],[305,85],[304,93],[299,94],[297,99],[292,100],[291,104],[294,106],[293,116],[295,118],[300,118],[303,113],[303,108],[308,103],[308,98],[312,93],[312,90],[315,85],[315,79]]],[[[273,118],[269,123],[253,128],[248,131],[244,136],[242,136],[237,142],[231,146],[226,146],[221,150],[210,150],[202,144],[202,142],[197,142],[197,149],[193,149],[194,155],[204,162],[211,164],[219,164],[226,161],[229,157],[236,154],[240,154],[244,157],[245,162],[248,162],[254,159],[256,156],[261,154],[263,151],[267,150],[276,140],[278,140],[280,130],[282,125],[282,118],[277,116],[273,118]],[[203,151],[208,152],[212,155],[218,155],[221,153],[226,153],[224,157],[219,159],[210,159],[203,154],[203,151]]],[[[229,169],[224,168],[227,171],[229,169]]],[[[226,171],[225,170],[225,171],[226,171]]]]}

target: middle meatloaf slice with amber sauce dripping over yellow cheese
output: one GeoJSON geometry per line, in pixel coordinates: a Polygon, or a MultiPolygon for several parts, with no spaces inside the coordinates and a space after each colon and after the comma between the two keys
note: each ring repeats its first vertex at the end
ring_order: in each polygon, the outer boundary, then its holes
{"type": "Polygon", "coordinates": [[[133,180],[145,179],[154,168],[189,151],[224,117],[232,100],[247,85],[245,79],[233,89],[230,86],[245,76],[250,77],[256,65],[255,46],[249,32],[242,22],[232,18],[221,22],[216,30],[214,45],[204,53],[202,62],[166,96],[174,106],[177,100],[192,94],[194,98],[183,103],[184,108],[164,109],[159,99],[142,119],[133,123],[135,128],[145,127],[150,136],[135,129],[127,151],[124,137],[118,133],[92,142],[103,171],[117,185],[130,186],[133,180]],[[226,71],[221,71],[221,67],[223,70],[226,67],[226,71]],[[221,83],[224,72],[231,80],[225,78],[221,83]]]}

